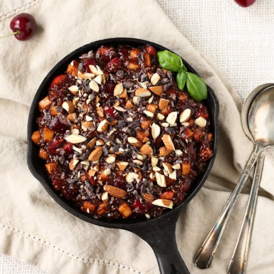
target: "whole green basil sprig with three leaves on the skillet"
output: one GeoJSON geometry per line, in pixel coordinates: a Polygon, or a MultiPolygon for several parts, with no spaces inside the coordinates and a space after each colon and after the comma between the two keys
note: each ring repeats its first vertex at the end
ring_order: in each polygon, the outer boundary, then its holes
{"type": "Polygon", "coordinates": [[[187,91],[193,99],[197,101],[207,99],[207,87],[204,80],[197,74],[187,72],[180,56],[168,50],[158,51],[157,56],[162,68],[178,72],[176,82],[180,90],[183,90],[186,84],[187,91]]]}

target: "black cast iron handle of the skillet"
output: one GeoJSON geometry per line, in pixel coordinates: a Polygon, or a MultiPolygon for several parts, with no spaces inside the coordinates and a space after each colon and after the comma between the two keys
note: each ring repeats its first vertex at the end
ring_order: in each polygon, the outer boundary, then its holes
{"type": "MultiPolygon", "coordinates": [[[[175,212],[174,212],[175,213],[175,212]]],[[[156,219],[147,225],[131,230],[152,248],[161,274],[189,274],[178,251],[175,237],[176,222],[179,213],[169,218],[156,219]]]]}

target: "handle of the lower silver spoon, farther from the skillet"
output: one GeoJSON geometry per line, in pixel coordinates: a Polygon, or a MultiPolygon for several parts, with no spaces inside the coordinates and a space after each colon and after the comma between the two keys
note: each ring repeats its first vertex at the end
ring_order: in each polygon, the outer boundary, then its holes
{"type": "Polygon", "coordinates": [[[264,152],[258,158],[255,168],[255,175],[251,187],[245,218],[241,227],[241,231],[228,267],[228,274],[245,274],[247,269],[248,252],[252,234],[252,228],[255,218],[256,203],[258,190],[262,178],[264,167],[264,152]]]}

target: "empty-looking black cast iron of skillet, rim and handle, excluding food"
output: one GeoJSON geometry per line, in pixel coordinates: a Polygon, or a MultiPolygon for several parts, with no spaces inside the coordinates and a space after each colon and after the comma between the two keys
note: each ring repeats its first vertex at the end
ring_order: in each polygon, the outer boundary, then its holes
{"type": "MultiPolygon", "coordinates": [[[[44,161],[38,157],[38,146],[36,146],[31,141],[31,134],[33,131],[37,130],[36,118],[39,116],[38,102],[44,98],[47,94],[48,87],[53,77],[64,73],[67,65],[75,58],[79,57],[82,53],[86,53],[90,50],[96,50],[101,45],[129,45],[129,46],[143,46],[145,44],[150,44],[154,46],[157,50],[166,49],[158,44],[135,39],[135,38],[110,38],[95,41],[82,46],[72,53],[64,57],[60,62],[58,62],[54,68],[47,74],[40,87],[38,88],[34,99],[32,101],[28,125],[27,125],[27,141],[28,141],[28,151],[27,151],[27,163],[29,170],[38,179],[50,196],[65,210],[69,211],[74,216],[81,218],[94,225],[99,225],[107,228],[119,228],[131,231],[146,241],[150,247],[153,249],[159,269],[161,274],[189,274],[189,271],[182,260],[180,253],[177,248],[176,238],[175,238],[175,227],[179,214],[183,207],[196,195],[204,184],[214,162],[214,158],[217,150],[218,142],[218,113],[219,105],[214,92],[210,87],[208,88],[208,99],[205,104],[208,107],[210,118],[211,118],[211,132],[213,134],[213,152],[214,156],[207,162],[206,169],[203,174],[201,174],[196,181],[193,183],[193,187],[190,189],[188,197],[176,208],[171,211],[166,212],[162,216],[150,220],[134,220],[125,219],[115,222],[108,223],[106,221],[95,220],[88,216],[80,209],[76,208],[69,201],[62,199],[54,191],[52,184],[45,171],[44,161]]],[[[194,72],[195,70],[184,61],[188,71],[194,72]]]]}

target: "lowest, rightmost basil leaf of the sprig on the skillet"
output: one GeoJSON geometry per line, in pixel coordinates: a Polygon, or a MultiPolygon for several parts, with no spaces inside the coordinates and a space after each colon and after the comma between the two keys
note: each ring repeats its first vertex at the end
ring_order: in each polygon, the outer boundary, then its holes
{"type": "Polygon", "coordinates": [[[207,87],[205,81],[197,74],[186,72],[186,87],[190,96],[201,101],[207,99],[207,87]]]}

